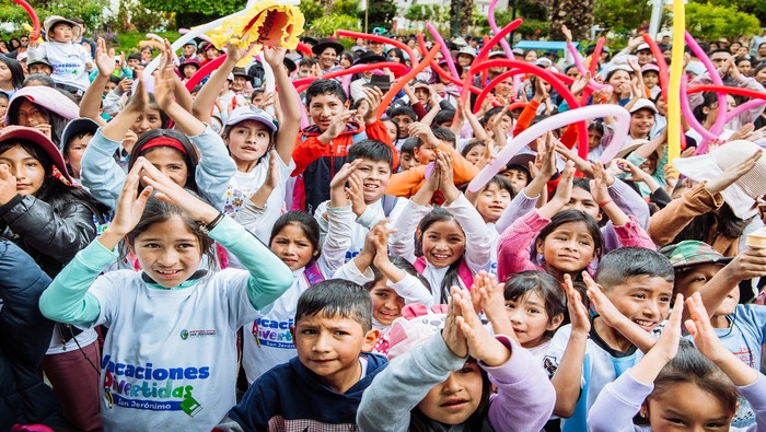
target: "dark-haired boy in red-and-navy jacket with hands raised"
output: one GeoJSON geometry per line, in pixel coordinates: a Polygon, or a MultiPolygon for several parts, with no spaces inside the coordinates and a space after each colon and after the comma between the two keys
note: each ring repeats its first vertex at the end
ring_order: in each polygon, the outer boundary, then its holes
{"type": "MultiPolygon", "coordinates": [[[[353,120],[355,110],[340,83],[320,79],[306,89],[306,108],[312,125],[298,137],[292,154],[295,170],[292,176],[302,175],[302,205],[298,208],[314,213],[321,202],[329,199],[329,180],[346,163],[349,148],[364,139],[373,139],[391,147],[393,166],[398,156],[391,142],[385,125],[376,117],[383,98],[379,89],[364,87],[369,109],[364,114],[364,126],[353,120]]],[[[295,184],[300,188],[300,180],[295,184]]],[[[300,190],[300,189],[299,189],[300,190]]],[[[293,201],[293,207],[297,207],[293,201]]]]}

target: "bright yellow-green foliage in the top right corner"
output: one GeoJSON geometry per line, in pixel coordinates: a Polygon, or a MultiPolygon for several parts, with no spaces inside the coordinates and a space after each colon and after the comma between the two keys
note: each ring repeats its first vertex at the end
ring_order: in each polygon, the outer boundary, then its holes
{"type": "Polygon", "coordinates": [[[755,15],[740,12],[735,5],[711,3],[686,4],[686,28],[706,40],[761,34],[761,23],[755,15]]]}

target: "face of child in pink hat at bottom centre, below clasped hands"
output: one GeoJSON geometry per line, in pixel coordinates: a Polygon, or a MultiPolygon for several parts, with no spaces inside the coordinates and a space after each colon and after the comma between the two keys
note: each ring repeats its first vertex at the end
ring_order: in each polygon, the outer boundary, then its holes
{"type": "Polygon", "coordinates": [[[460,371],[431,388],[418,404],[429,419],[445,424],[464,423],[481,404],[481,370],[475,362],[466,363],[460,371]]]}

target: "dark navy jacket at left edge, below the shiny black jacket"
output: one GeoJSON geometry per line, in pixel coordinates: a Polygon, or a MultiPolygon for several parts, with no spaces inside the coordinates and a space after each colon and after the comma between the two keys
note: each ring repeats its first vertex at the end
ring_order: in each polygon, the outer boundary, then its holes
{"type": "Polygon", "coordinates": [[[53,390],[37,374],[54,328],[37,305],[49,283],[19,246],[0,241],[0,431],[15,423],[65,428],[53,390]]]}

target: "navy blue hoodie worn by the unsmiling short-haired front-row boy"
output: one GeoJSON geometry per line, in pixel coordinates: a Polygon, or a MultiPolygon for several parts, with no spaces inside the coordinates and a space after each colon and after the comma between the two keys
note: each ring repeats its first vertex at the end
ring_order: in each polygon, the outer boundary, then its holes
{"type": "Polygon", "coordinates": [[[253,383],[242,401],[229,411],[216,430],[326,430],[323,424],[348,424],[345,430],[358,430],[357,408],[362,392],[388,363],[380,354],[361,355],[368,361],[367,375],[345,394],[322,384],[297,357],[272,367],[253,383]]]}

